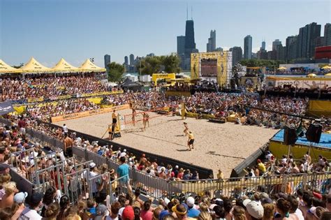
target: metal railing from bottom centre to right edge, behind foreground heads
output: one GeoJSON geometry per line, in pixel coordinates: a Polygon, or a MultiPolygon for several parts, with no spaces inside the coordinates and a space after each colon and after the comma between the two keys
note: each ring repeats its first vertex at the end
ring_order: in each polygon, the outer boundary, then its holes
{"type": "Polygon", "coordinates": [[[288,175],[272,175],[267,177],[238,177],[228,179],[199,179],[172,181],[172,191],[183,193],[203,193],[210,191],[212,195],[229,198],[252,196],[254,192],[293,194],[297,189],[318,190],[326,193],[331,181],[331,173],[302,173],[288,175]],[[175,190],[174,190],[175,189],[175,190]]]}

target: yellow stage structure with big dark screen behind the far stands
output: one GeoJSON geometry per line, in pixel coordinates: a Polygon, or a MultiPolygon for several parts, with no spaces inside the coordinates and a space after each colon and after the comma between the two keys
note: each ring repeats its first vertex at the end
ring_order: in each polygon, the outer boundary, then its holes
{"type": "Polygon", "coordinates": [[[191,53],[191,78],[230,85],[232,72],[232,52],[191,53]]]}

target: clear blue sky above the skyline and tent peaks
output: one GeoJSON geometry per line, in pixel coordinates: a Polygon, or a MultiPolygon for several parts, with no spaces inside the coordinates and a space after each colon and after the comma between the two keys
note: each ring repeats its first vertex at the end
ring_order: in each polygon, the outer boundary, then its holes
{"type": "Polygon", "coordinates": [[[170,54],[185,34],[186,4],[201,52],[211,29],[216,47],[243,47],[250,34],[256,51],[263,38],[270,49],[305,24],[322,24],[323,35],[331,22],[330,0],[0,0],[0,59],[18,65],[33,56],[54,66],[64,57],[79,66],[94,57],[103,66],[104,54],[120,63],[131,53],[170,54]]]}

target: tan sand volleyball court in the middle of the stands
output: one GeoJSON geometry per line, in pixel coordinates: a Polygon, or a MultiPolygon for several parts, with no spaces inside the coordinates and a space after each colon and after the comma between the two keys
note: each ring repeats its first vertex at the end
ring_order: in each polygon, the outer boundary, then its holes
{"type": "MultiPolygon", "coordinates": [[[[137,112],[140,112],[137,110],[137,112]]],[[[131,120],[131,110],[120,110],[119,115],[126,122],[131,120]]],[[[71,119],[57,122],[64,123],[69,129],[88,133],[101,138],[112,122],[112,113],[71,119]]],[[[217,170],[222,170],[225,177],[230,177],[231,170],[249,155],[265,144],[278,130],[265,129],[258,126],[242,126],[233,123],[217,124],[205,119],[159,116],[149,112],[149,127],[142,131],[142,115],[138,114],[135,123],[122,125],[122,138],[115,138],[115,142],[128,145],[146,152],[172,157],[194,165],[211,168],[216,177],[217,170]],[[188,137],[184,136],[184,124],[189,126],[195,142],[194,149],[187,151],[188,137]]],[[[124,120],[122,121],[124,124],[124,120]]],[[[106,138],[108,134],[105,135],[106,138]]]]}

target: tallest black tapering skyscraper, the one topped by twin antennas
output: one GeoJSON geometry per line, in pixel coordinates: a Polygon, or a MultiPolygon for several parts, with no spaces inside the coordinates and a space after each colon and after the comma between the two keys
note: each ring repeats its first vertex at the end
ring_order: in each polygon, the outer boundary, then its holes
{"type": "Polygon", "coordinates": [[[185,26],[185,70],[191,69],[191,52],[196,52],[196,41],[194,41],[194,22],[186,20],[185,26]]]}

